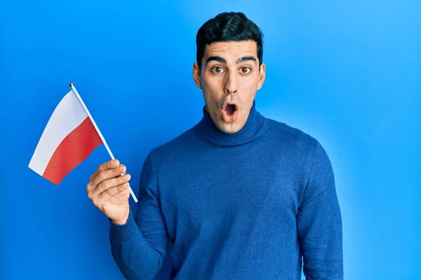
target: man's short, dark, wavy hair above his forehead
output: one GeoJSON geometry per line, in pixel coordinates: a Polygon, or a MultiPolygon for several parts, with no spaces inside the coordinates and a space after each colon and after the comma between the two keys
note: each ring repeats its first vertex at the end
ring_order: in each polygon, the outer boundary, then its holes
{"type": "Polygon", "coordinates": [[[201,69],[201,59],[206,45],[214,42],[253,40],[258,45],[259,66],[263,57],[262,30],[243,13],[220,13],[205,22],[196,34],[196,60],[201,69]]]}

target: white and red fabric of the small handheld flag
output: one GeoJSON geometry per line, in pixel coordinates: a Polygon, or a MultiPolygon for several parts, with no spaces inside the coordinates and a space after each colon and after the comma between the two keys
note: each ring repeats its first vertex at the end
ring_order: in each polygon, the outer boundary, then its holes
{"type": "Polygon", "coordinates": [[[103,144],[100,134],[73,90],[53,111],[29,162],[29,168],[58,185],[103,144]]]}

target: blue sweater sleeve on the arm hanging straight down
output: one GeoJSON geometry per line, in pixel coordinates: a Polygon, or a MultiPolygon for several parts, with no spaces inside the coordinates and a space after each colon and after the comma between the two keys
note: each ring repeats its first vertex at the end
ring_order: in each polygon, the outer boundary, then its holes
{"type": "Polygon", "coordinates": [[[298,209],[298,237],[307,280],[343,279],[342,218],[333,169],[317,142],[298,209]]]}

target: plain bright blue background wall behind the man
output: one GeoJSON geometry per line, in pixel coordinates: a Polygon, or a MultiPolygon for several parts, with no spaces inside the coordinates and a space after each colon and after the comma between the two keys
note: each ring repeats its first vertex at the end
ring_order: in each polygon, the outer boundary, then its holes
{"type": "Polygon", "coordinates": [[[265,34],[258,110],[330,156],[345,279],[421,279],[418,0],[1,1],[1,279],[122,279],[85,190],[104,146],[60,186],[27,165],[73,82],[137,191],[149,150],[201,118],[196,31],[225,10],[265,34]]]}

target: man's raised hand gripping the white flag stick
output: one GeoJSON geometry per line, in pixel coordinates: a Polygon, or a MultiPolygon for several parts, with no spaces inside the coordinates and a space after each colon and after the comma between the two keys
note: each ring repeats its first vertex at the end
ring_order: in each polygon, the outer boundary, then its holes
{"type": "Polygon", "coordinates": [[[123,225],[129,214],[130,189],[126,167],[119,160],[104,162],[91,175],[86,192],[93,204],[114,223],[123,225]]]}

